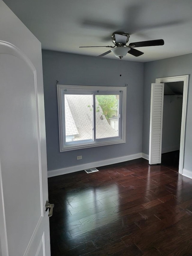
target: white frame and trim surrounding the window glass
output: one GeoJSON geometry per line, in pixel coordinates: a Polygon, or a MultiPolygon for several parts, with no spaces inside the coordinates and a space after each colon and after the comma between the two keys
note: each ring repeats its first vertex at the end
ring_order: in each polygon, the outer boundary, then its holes
{"type": "MultiPolygon", "coordinates": [[[[76,86],[76,85],[57,85],[57,100],[58,100],[58,122],[59,122],[59,148],[60,152],[76,150],[76,149],[85,149],[98,146],[113,145],[119,143],[125,143],[125,133],[126,133],[126,97],[127,97],[127,88],[126,87],[117,87],[117,86],[76,86]],[[97,141],[86,141],[86,142],[77,142],[77,143],[66,143],[64,140],[64,94],[65,93],[85,93],[85,94],[119,94],[119,122],[120,122],[120,131],[118,137],[103,138],[98,139],[97,141]]],[[[94,103],[95,105],[95,103],[94,103]]],[[[95,132],[95,131],[94,131],[95,132]]]]}

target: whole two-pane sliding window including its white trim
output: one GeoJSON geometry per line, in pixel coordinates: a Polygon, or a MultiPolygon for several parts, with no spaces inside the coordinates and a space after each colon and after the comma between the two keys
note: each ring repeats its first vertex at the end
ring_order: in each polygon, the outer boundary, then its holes
{"type": "Polygon", "coordinates": [[[57,85],[60,152],[125,143],[126,87],[57,85]]]}

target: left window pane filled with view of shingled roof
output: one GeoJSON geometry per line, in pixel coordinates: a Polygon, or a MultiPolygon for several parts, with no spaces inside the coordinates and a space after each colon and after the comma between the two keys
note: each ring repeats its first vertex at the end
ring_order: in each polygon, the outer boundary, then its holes
{"type": "Polygon", "coordinates": [[[65,94],[65,142],[93,139],[92,95],[65,94]]]}

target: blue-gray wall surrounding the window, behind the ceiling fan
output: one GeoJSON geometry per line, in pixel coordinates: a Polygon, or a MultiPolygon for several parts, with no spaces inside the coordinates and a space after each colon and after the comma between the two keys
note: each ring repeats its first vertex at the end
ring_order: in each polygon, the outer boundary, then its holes
{"type": "Polygon", "coordinates": [[[48,170],[142,152],[143,63],[42,51],[48,170]],[[56,80],[59,84],[127,86],[126,143],[59,152],[56,80]],[[76,160],[82,155],[82,160],[76,160]]]}

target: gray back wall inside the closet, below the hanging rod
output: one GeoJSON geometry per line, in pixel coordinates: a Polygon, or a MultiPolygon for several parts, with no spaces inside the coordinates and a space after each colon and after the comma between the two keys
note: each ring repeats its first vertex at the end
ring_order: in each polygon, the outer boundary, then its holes
{"type": "Polygon", "coordinates": [[[162,150],[166,150],[166,152],[173,151],[172,147],[179,149],[182,102],[181,96],[164,96],[162,150]]]}

